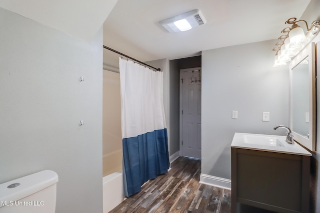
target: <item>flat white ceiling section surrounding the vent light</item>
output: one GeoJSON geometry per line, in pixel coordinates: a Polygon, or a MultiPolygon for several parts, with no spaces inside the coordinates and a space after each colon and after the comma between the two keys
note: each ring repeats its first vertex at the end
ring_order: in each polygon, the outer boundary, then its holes
{"type": "MultiPolygon", "coordinates": [[[[202,50],[276,39],[310,0],[117,0],[103,24],[103,44],[140,61],[178,59],[202,50]],[[169,33],[159,21],[199,9],[204,25],[169,33]]],[[[270,46],[270,50],[272,47],[270,46]]],[[[103,50],[103,66],[118,55],[103,50]]],[[[109,69],[109,70],[110,70],[109,69]]]]}

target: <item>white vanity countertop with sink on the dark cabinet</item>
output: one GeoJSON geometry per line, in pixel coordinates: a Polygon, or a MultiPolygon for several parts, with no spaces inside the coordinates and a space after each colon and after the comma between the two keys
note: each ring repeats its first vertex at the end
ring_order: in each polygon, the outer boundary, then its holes
{"type": "Polygon", "coordinates": [[[294,144],[288,144],[287,142],[285,142],[285,138],[286,136],[280,135],[262,135],[236,132],[234,133],[231,147],[250,150],[260,150],[267,152],[286,153],[293,155],[311,156],[311,153],[303,147],[301,147],[298,143],[294,142],[294,144]],[[245,137],[250,138],[251,141],[253,141],[253,139],[256,138],[256,143],[251,143],[250,141],[248,142],[248,140],[245,140],[245,137]],[[265,137],[266,139],[270,139],[272,143],[270,143],[270,145],[266,145],[265,143],[259,143],[259,140],[263,137],[265,137]],[[278,141],[276,139],[278,139],[278,141]],[[274,146],[275,143],[277,143],[278,146],[274,146]]]}

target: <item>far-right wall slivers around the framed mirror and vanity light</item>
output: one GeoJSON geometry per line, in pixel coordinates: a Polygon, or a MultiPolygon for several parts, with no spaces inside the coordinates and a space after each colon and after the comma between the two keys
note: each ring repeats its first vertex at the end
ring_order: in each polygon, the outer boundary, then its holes
{"type": "MultiPolygon", "coordinates": [[[[303,12],[301,19],[304,19],[311,24],[314,20],[320,19],[320,0],[311,0],[308,7],[303,12]]],[[[317,40],[320,40],[320,34],[317,35],[317,40]]],[[[320,42],[316,45],[317,49],[317,61],[320,61],[320,42]]],[[[317,73],[320,70],[320,63],[316,65],[317,73]]],[[[317,99],[317,106],[316,106],[316,152],[312,153],[311,158],[311,213],[318,213],[320,212],[320,166],[318,161],[320,160],[320,84],[316,84],[316,99],[317,99]]]]}

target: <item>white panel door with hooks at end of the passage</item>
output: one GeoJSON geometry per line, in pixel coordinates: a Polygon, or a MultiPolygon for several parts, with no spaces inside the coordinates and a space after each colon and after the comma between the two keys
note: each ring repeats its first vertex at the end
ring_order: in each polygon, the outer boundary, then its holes
{"type": "Polygon", "coordinates": [[[182,156],[201,159],[200,71],[181,71],[182,156]]]}

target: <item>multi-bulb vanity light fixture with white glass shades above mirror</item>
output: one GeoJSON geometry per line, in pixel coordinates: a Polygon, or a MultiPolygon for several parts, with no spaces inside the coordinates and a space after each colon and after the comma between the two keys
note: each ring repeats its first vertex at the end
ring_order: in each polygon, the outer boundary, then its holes
{"type": "Polygon", "coordinates": [[[313,21],[310,28],[305,20],[296,20],[295,17],[289,18],[285,23],[292,26],[282,29],[281,33],[284,34],[278,37],[280,41],[276,42],[272,49],[276,51],[273,67],[286,65],[286,62],[297,55],[320,31],[320,20],[313,21]],[[297,24],[299,21],[303,21],[306,25],[305,34],[297,24]]]}

